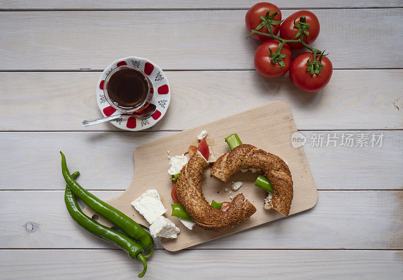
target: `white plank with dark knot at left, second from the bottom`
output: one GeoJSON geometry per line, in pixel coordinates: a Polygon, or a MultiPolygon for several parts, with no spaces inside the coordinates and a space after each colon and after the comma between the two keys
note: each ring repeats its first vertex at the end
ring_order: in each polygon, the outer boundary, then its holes
{"type": "MultiPolygon", "coordinates": [[[[121,191],[93,193],[106,200],[121,191]]],[[[0,248],[113,248],[77,225],[63,194],[0,191],[0,248]]],[[[402,200],[402,191],[319,191],[311,210],[192,248],[403,249],[402,200]]]]}

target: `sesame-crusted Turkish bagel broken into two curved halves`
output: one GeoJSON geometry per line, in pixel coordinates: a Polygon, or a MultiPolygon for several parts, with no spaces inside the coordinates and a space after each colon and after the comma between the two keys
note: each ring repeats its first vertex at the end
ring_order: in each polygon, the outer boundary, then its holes
{"type": "MultiPolygon", "coordinates": [[[[208,162],[200,152],[195,152],[182,167],[176,183],[176,195],[197,226],[219,231],[231,228],[250,217],[256,208],[242,193],[236,195],[226,211],[210,205],[201,190],[201,179],[208,162]]],[[[293,199],[293,182],[288,165],[278,156],[242,144],[220,156],[214,163],[211,174],[228,182],[240,169],[261,170],[271,182],[274,193],[264,208],[274,208],[288,215],[293,199]]]]}

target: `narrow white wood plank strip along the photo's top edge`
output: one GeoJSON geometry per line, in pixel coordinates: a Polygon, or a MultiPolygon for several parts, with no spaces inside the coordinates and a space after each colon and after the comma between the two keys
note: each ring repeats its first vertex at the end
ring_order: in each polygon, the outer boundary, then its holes
{"type": "MultiPolygon", "coordinates": [[[[128,0],[116,0],[113,2],[95,1],[95,0],[1,0],[0,9],[8,10],[64,10],[64,9],[249,9],[256,0],[215,0],[215,1],[198,1],[198,0],[156,0],[156,1],[128,1],[128,0]]],[[[351,1],[351,0],[339,0],[339,1],[323,1],[323,0],[311,0],[311,1],[299,1],[298,4],[291,0],[286,1],[272,1],[271,3],[277,5],[280,9],[318,9],[318,8],[368,8],[368,7],[401,7],[403,2],[401,0],[394,1],[351,1]]]]}

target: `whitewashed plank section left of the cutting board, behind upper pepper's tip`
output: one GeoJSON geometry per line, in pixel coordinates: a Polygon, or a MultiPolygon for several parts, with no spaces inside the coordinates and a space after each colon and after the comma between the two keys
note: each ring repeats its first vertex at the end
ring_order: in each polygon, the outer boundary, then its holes
{"type": "Polygon", "coordinates": [[[0,164],[7,170],[1,173],[0,189],[64,189],[59,151],[70,169],[86,174],[81,182],[88,189],[126,189],[135,170],[133,151],[171,133],[0,133],[0,164]]]}

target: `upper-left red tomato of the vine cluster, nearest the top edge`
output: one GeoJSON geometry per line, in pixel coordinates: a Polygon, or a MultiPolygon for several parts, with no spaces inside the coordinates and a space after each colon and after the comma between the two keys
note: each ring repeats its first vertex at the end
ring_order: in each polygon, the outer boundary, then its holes
{"type": "MultiPolygon", "coordinates": [[[[279,12],[279,14],[277,16],[275,16],[273,20],[281,21],[281,11],[280,11],[279,7],[277,7],[276,5],[271,4],[271,3],[267,3],[267,2],[257,3],[255,5],[253,5],[252,8],[249,9],[249,11],[246,12],[245,24],[246,24],[246,29],[248,30],[248,33],[250,33],[252,30],[254,30],[261,23],[260,17],[261,16],[265,17],[266,13],[270,10],[276,10],[277,12],[279,12]]],[[[269,15],[273,15],[274,13],[276,13],[276,12],[275,11],[270,12],[269,15]]],[[[273,31],[274,35],[277,35],[277,33],[279,33],[279,30],[280,30],[280,24],[272,25],[272,31],[273,31]]],[[[267,34],[269,33],[267,30],[267,26],[263,26],[258,31],[267,33],[267,34]]],[[[265,41],[267,39],[270,39],[270,37],[260,35],[260,34],[252,34],[252,37],[253,37],[253,39],[260,40],[260,41],[265,41]]]]}

